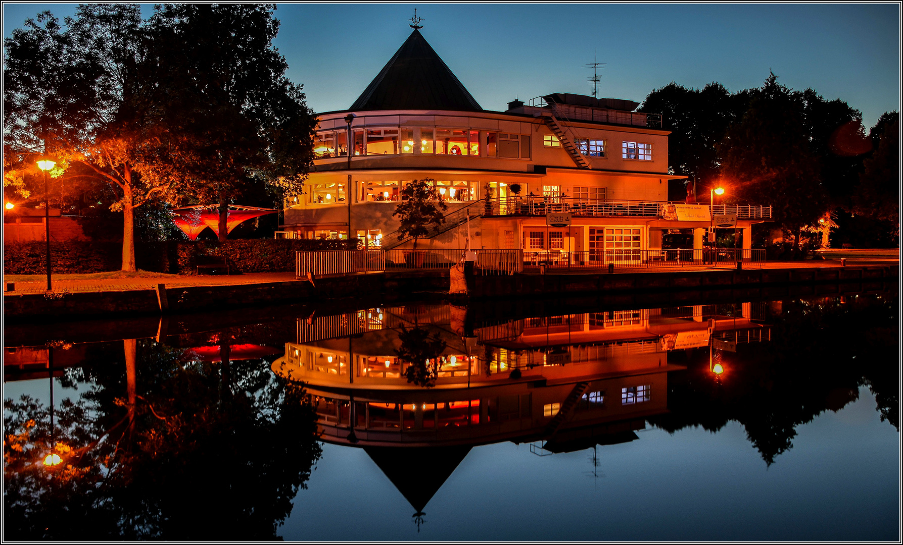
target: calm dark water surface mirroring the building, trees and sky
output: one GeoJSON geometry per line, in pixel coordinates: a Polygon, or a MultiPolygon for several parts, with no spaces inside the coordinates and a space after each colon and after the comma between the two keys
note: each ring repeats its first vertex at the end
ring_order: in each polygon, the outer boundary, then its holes
{"type": "Polygon", "coordinates": [[[899,539],[896,291],[647,307],[7,324],[4,538],[899,539]]]}

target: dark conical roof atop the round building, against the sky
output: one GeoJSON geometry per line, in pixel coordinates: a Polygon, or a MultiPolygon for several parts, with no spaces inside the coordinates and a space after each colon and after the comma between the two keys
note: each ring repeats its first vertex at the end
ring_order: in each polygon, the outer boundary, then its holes
{"type": "Polygon", "coordinates": [[[349,109],[480,112],[483,108],[414,29],[349,109]]]}

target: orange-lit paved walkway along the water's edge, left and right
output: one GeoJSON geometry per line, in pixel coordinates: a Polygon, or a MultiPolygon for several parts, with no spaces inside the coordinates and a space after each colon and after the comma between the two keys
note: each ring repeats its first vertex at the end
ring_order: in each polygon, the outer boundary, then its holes
{"type": "MultiPolygon", "coordinates": [[[[891,259],[886,254],[875,258],[857,259],[851,258],[846,261],[847,266],[888,266],[899,264],[898,259],[891,259]]],[[[811,261],[792,261],[792,262],[769,262],[769,263],[743,263],[745,269],[808,269],[808,268],[837,268],[841,267],[839,259],[811,261]]],[[[686,265],[680,267],[637,267],[615,269],[615,273],[675,273],[689,271],[724,271],[734,267],[724,263],[719,266],[712,265],[686,265]]],[[[405,269],[404,272],[411,272],[412,269],[405,269]]],[[[606,269],[598,268],[561,268],[547,269],[546,274],[598,274],[604,273],[606,269]]],[[[401,272],[401,271],[399,271],[401,272]]],[[[126,291],[126,290],[150,290],[154,289],[157,284],[165,284],[167,287],[175,286],[223,286],[236,284],[255,284],[267,282],[291,282],[295,280],[294,273],[244,273],[229,276],[174,276],[172,274],[160,277],[142,277],[142,278],[104,278],[91,280],[67,280],[66,274],[60,274],[53,277],[52,285],[54,293],[72,293],[75,291],[126,291]]],[[[14,291],[5,291],[6,294],[19,295],[23,293],[44,293],[47,291],[47,281],[42,278],[40,280],[29,279],[26,281],[15,282],[14,291]]]]}

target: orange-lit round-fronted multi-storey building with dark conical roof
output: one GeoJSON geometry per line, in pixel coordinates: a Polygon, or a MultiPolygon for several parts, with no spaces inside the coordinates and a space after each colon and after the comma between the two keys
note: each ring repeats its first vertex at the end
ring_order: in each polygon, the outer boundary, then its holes
{"type": "MultiPolygon", "coordinates": [[[[668,134],[638,103],[554,93],[482,109],[417,30],[348,109],[319,115],[317,159],[303,194],[284,203],[287,236],[357,236],[410,247],[393,213],[411,180],[432,179],[445,223],[421,248],[593,253],[660,249],[686,229],[703,247],[708,203],[668,203],[668,134]],[[565,220],[554,227],[550,214],[565,220]]],[[[769,207],[737,216],[742,247],[769,207]]],[[[689,247],[689,246],[684,246],[689,247]]],[[[738,245],[740,247],[740,245],[738,245]]]]}

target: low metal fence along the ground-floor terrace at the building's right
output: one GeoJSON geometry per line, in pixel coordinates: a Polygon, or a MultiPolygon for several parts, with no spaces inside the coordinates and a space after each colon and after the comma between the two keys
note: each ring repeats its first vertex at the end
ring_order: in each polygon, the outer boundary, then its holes
{"type": "Polygon", "coordinates": [[[644,269],[685,267],[699,265],[736,266],[741,261],[744,265],[761,267],[765,263],[765,250],[761,248],[702,248],[675,250],[591,250],[590,252],[558,252],[524,251],[526,270],[544,269],[644,269]]]}

